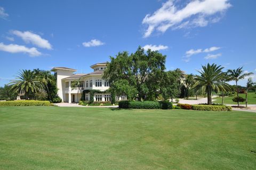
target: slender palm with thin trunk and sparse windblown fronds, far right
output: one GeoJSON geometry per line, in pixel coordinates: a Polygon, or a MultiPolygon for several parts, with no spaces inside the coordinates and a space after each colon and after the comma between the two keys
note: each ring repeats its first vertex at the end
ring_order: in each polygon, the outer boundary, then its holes
{"type": "MultiPolygon", "coordinates": [[[[238,67],[237,69],[231,70],[229,69],[227,71],[228,75],[231,77],[232,80],[235,80],[236,82],[236,94],[238,97],[238,86],[237,86],[237,82],[240,79],[244,79],[246,76],[250,76],[253,73],[252,72],[248,72],[248,73],[243,73],[243,67],[238,67]]],[[[237,101],[237,106],[239,106],[239,101],[237,101]]]]}

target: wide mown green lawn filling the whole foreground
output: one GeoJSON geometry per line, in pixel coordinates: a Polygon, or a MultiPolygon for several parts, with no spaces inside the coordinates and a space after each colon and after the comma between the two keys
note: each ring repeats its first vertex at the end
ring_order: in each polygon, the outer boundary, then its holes
{"type": "Polygon", "coordinates": [[[256,114],[0,107],[0,169],[255,169],[256,114]]]}

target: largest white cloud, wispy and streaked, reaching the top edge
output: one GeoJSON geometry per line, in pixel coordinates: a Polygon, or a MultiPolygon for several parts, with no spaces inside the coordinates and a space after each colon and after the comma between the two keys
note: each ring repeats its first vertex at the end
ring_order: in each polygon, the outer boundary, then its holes
{"type": "Polygon", "coordinates": [[[169,0],[153,14],[147,14],[142,21],[142,24],[148,26],[143,37],[149,37],[155,29],[164,33],[169,28],[205,27],[209,23],[218,22],[218,14],[231,6],[229,0],[195,0],[183,8],[178,3],[179,1],[169,0]]]}

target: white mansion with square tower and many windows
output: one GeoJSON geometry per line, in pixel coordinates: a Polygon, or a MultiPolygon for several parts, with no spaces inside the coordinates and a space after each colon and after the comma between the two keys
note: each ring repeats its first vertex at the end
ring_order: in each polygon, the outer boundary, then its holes
{"type": "MultiPolygon", "coordinates": [[[[78,87],[71,88],[71,82],[81,80],[81,90],[99,90],[101,92],[108,90],[109,83],[102,79],[103,71],[107,67],[107,62],[96,63],[91,66],[93,72],[89,74],[74,74],[75,69],[66,67],[54,67],[54,76],[57,77],[58,95],[63,102],[78,102],[81,97],[81,91],[78,87]],[[78,96],[77,96],[78,95],[78,96]]],[[[94,93],[94,101],[111,101],[110,93],[94,93]]],[[[85,100],[90,100],[90,93],[85,93],[85,100]]],[[[126,100],[126,96],[116,96],[116,101],[126,100]]]]}

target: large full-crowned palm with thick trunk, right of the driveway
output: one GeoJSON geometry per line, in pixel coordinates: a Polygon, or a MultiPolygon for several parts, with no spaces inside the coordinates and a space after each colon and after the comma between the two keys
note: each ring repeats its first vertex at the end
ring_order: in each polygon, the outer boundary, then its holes
{"type": "Polygon", "coordinates": [[[192,88],[201,88],[203,92],[207,92],[207,104],[212,104],[212,91],[220,91],[225,88],[221,83],[221,78],[224,73],[222,72],[223,67],[217,66],[217,64],[202,66],[201,70],[197,70],[199,74],[195,76],[195,84],[192,88]]]}

